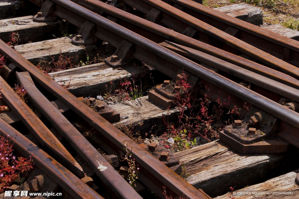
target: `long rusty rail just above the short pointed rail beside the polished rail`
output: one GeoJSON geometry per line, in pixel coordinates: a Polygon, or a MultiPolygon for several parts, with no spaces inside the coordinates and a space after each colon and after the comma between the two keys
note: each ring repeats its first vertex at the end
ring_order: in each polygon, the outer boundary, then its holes
{"type": "Polygon", "coordinates": [[[290,77],[289,75],[278,72],[269,67],[265,67],[261,64],[257,64],[240,56],[225,52],[224,50],[217,49],[216,47],[210,46],[180,33],[176,33],[172,30],[169,30],[168,28],[162,27],[158,24],[154,24],[150,21],[127,13],[123,10],[117,9],[103,2],[97,0],[79,0],[75,2],[84,3],[87,6],[92,7],[93,9],[96,9],[98,11],[101,10],[113,17],[116,17],[119,21],[118,23],[123,27],[139,33],[141,36],[146,36],[156,43],[161,43],[164,40],[172,40],[179,44],[200,50],[229,63],[235,64],[239,67],[263,75],[267,78],[286,84],[290,87],[299,89],[299,81],[295,78],[290,77]]]}

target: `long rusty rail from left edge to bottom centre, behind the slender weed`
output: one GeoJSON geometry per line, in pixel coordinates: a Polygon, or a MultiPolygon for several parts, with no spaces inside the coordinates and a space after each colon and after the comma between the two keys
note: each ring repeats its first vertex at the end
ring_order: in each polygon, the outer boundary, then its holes
{"type": "MultiPolygon", "coordinates": [[[[84,13],[89,12],[88,10],[83,11],[84,13]]],[[[111,24],[109,20],[105,22],[107,24],[111,24]]],[[[158,178],[161,183],[165,184],[177,195],[185,195],[189,198],[196,199],[209,198],[205,194],[194,188],[192,185],[187,183],[179,175],[175,174],[163,163],[152,157],[149,152],[138,146],[129,137],[124,135],[123,132],[119,131],[116,127],[114,127],[96,112],[87,107],[82,101],[78,100],[74,95],[57,84],[49,76],[37,69],[19,53],[14,50],[8,50],[8,48],[9,47],[0,40],[1,54],[6,55],[8,59],[16,64],[16,66],[18,66],[20,69],[28,71],[39,84],[41,84],[46,90],[50,91],[60,101],[62,101],[65,105],[70,107],[74,112],[76,112],[84,120],[91,124],[91,126],[93,126],[100,133],[111,140],[116,146],[118,146],[119,149],[123,149],[123,142],[126,142],[128,144],[128,147],[130,149],[132,148],[132,153],[135,160],[139,163],[139,165],[143,166],[144,169],[147,169],[147,173],[152,173],[152,175],[158,178]]],[[[118,189],[118,187],[115,187],[115,189],[118,189]]]]}

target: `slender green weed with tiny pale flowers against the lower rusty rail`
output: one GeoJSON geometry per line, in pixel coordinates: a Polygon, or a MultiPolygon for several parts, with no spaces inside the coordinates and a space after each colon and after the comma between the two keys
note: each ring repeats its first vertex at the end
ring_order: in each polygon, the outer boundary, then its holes
{"type": "Polygon", "coordinates": [[[127,180],[129,181],[129,184],[133,187],[136,186],[135,181],[138,179],[138,171],[139,167],[138,164],[135,163],[135,158],[132,158],[132,148],[131,150],[128,149],[128,144],[126,142],[123,142],[123,145],[125,146],[124,149],[126,149],[126,155],[123,158],[122,161],[126,161],[128,163],[128,169],[126,169],[129,173],[127,180]]]}

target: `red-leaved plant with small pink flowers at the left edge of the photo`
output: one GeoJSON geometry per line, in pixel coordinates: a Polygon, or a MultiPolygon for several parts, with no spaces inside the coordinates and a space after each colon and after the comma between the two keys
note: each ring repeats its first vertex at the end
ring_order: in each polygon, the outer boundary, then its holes
{"type": "Polygon", "coordinates": [[[31,158],[16,158],[13,154],[13,144],[0,136],[0,193],[12,183],[20,185],[25,181],[27,173],[33,168],[31,158]]]}

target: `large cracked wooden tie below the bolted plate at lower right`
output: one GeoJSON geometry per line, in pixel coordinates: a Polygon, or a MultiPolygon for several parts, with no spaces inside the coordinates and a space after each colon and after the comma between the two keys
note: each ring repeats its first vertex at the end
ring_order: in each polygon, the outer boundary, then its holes
{"type": "Polygon", "coordinates": [[[282,175],[298,163],[291,152],[245,155],[220,140],[176,155],[190,173],[187,181],[211,197],[225,194],[231,186],[241,189],[282,175]]]}

